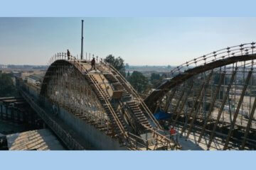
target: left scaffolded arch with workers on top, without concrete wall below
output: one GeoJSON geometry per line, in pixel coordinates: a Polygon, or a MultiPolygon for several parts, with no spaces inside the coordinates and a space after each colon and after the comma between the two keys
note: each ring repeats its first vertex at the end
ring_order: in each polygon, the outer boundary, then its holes
{"type": "MultiPolygon", "coordinates": [[[[114,67],[65,53],[50,59],[41,96],[128,149],[174,149],[149,108],[114,67]]],[[[53,109],[54,110],[54,109],[53,109]]]]}

